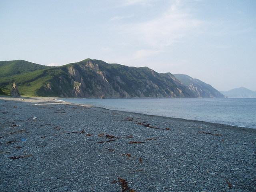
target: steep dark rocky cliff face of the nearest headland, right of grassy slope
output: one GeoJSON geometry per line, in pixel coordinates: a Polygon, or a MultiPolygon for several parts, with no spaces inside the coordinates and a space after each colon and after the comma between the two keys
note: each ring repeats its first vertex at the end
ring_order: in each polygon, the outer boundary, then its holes
{"type": "MultiPolygon", "coordinates": [[[[84,60],[68,64],[63,70],[72,80],[68,92],[61,96],[105,98],[184,98],[190,97],[172,74],[164,75],[147,67],[135,68],[107,64],[99,60],[84,60]]],[[[67,82],[65,82],[67,83],[67,82]]],[[[59,78],[58,84],[63,84],[59,78]]]]}

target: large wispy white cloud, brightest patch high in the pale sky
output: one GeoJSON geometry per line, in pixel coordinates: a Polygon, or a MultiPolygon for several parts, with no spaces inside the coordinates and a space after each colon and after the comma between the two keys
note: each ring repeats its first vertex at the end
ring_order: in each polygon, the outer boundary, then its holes
{"type": "Polygon", "coordinates": [[[180,41],[194,32],[201,24],[201,20],[193,18],[186,10],[182,10],[180,2],[175,1],[160,16],[146,22],[123,24],[117,28],[117,31],[125,36],[130,36],[136,42],[161,48],[180,41]]]}

